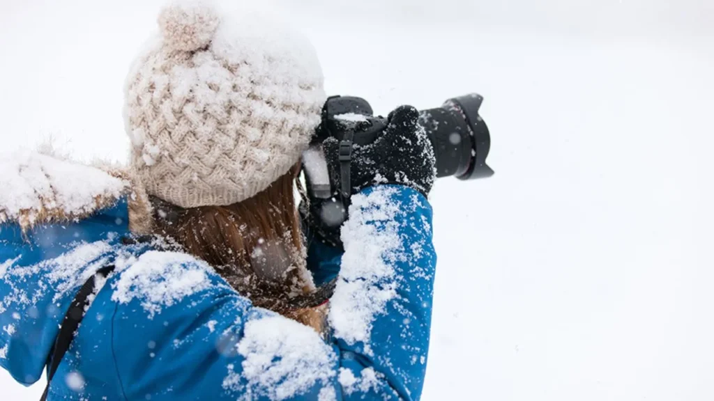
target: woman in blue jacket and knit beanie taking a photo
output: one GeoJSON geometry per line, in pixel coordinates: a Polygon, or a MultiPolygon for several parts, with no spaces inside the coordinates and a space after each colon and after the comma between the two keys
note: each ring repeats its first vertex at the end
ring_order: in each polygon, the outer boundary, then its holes
{"type": "Polygon", "coordinates": [[[311,46],[268,22],[161,11],[126,85],[129,169],[0,162],[0,366],[18,382],[48,365],[47,400],[420,397],[436,256],[418,114],[353,149],[343,246],[303,244],[293,188],[325,95],[311,46]],[[324,305],[313,276],[336,270],[324,305]]]}

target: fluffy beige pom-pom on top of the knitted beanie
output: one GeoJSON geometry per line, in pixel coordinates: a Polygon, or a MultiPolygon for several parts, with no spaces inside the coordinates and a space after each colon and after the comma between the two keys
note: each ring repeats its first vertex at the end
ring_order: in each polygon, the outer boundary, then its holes
{"type": "Polygon", "coordinates": [[[196,51],[211,44],[220,22],[212,1],[172,1],[159,14],[164,43],[178,51],[196,51]]]}

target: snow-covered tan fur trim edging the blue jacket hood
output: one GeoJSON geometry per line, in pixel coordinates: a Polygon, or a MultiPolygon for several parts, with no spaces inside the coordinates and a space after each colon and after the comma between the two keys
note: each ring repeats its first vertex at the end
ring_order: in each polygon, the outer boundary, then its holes
{"type": "Polygon", "coordinates": [[[129,228],[151,230],[151,205],[132,174],[116,166],[94,166],[36,151],[0,157],[0,224],[35,225],[77,221],[129,200],[129,228]]]}

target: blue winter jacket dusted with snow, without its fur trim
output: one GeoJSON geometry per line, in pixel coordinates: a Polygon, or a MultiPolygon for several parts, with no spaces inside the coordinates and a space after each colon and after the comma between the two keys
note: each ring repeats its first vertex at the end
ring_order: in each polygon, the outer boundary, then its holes
{"type": "Polygon", "coordinates": [[[2,200],[0,366],[18,382],[39,380],[77,290],[99,268],[116,265],[86,310],[49,400],[421,395],[436,256],[431,208],[416,191],[363,191],[343,228],[344,253],[311,244],[318,281],[339,277],[327,341],[253,307],[201,260],[125,245],[132,235],[126,196],[85,218],[25,232],[2,215],[2,200]]]}

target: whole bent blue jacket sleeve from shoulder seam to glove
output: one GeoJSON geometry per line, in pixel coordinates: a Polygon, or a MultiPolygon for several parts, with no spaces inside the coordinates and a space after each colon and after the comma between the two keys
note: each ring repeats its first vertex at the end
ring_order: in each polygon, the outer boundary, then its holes
{"type": "Polygon", "coordinates": [[[431,209],[416,191],[382,186],[356,196],[350,215],[327,342],[254,308],[186,255],[120,261],[112,350],[126,399],[418,399],[436,263],[431,209]]]}

